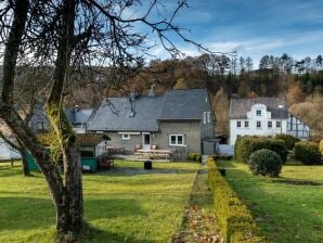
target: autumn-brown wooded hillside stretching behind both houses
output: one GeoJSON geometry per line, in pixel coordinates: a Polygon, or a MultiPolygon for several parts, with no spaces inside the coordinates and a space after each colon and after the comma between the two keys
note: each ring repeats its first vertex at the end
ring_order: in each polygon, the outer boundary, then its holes
{"type": "MultiPolygon", "coordinates": [[[[51,68],[28,69],[30,75],[22,72],[24,75],[17,78],[20,87],[23,87],[18,89],[22,93],[18,97],[24,100],[46,97],[50,87],[42,87],[41,80],[50,78],[51,68]]],[[[65,99],[66,106],[98,106],[104,97],[129,95],[129,91],[146,94],[152,85],[157,94],[169,89],[207,88],[217,116],[217,132],[225,135],[229,132],[230,97],[284,95],[289,111],[310,125],[313,139],[323,137],[321,55],[299,61],[287,54],[263,55],[259,66],[255,66],[249,56],[203,54],[183,60],[154,60],[143,67],[121,69],[119,73],[109,68],[91,72],[85,68],[72,78],[78,81],[77,87],[67,87],[73,92],[67,90],[70,94],[65,99]]]]}

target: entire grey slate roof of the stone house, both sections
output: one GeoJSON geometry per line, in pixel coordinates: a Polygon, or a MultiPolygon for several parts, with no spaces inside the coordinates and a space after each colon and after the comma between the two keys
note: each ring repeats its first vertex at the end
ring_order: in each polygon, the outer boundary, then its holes
{"type": "Polygon", "coordinates": [[[108,98],[88,130],[158,131],[158,120],[201,120],[209,110],[206,89],[167,91],[164,97],[108,98]]]}

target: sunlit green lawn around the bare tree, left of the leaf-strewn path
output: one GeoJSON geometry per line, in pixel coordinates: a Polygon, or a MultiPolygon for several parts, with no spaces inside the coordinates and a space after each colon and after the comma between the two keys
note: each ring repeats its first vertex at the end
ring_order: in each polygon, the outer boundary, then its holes
{"type": "MultiPolygon", "coordinates": [[[[193,163],[115,163],[108,172],[83,176],[83,242],[168,242],[182,220],[195,174],[193,163]]],[[[54,209],[41,174],[0,164],[0,242],[51,242],[54,209]]]]}

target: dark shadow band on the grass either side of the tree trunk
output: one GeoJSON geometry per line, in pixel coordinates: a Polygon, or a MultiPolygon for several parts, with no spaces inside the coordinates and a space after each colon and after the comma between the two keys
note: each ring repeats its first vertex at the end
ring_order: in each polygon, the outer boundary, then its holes
{"type": "MultiPolygon", "coordinates": [[[[0,197],[0,232],[47,229],[55,223],[54,206],[50,199],[0,197]]],[[[145,215],[135,200],[128,199],[86,199],[85,214],[87,220],[145,215]]]]}

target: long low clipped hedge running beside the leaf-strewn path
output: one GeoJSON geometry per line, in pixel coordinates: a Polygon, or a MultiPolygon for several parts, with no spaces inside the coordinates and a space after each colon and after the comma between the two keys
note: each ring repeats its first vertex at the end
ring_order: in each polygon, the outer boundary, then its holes
{"type": "Polygon", "coordinates": [[[215,210],[228,243],[267,243],[249,209],[220,175],[214,158],[207,159],[208,180],[215,200],[215,210]]]}

